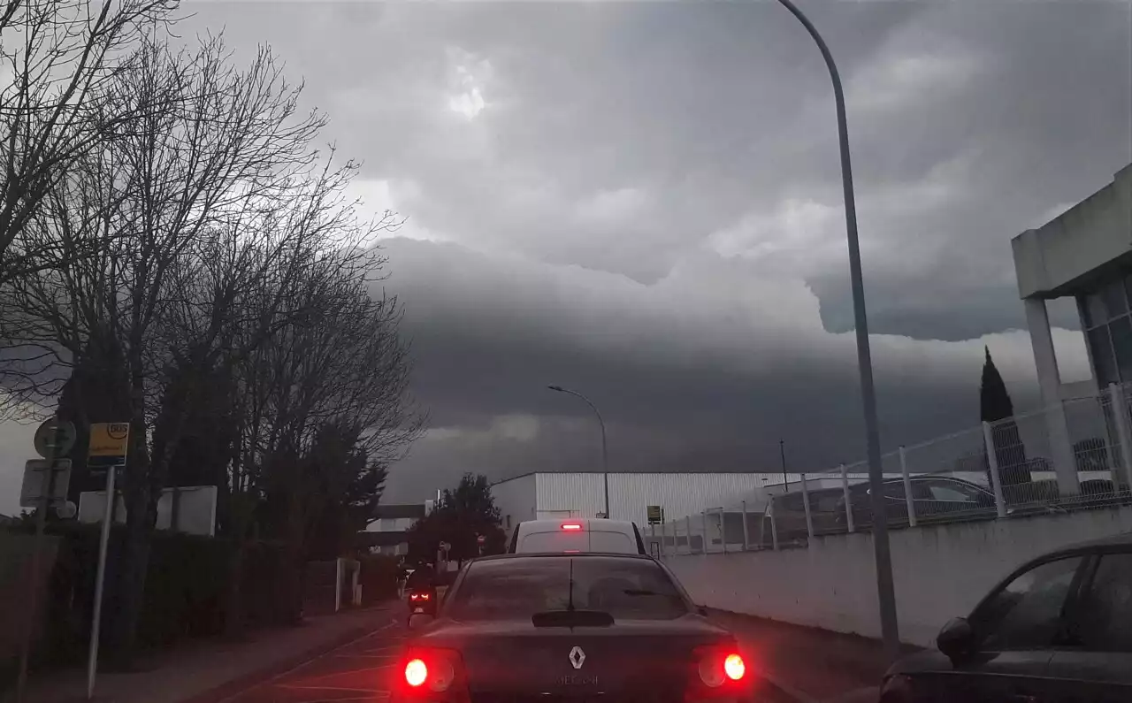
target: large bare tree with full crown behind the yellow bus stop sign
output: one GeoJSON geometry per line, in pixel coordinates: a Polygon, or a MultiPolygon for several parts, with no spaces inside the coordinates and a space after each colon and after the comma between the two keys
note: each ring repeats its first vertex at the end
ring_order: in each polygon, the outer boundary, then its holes
{"type": "Polygon", "coordinates": [[[240,310],[265,277],[317,260],[329,237],[321,228],[334,220],[326,199],[350,173],[319,164],[311,143],[324,118],[298,114],[299,91],[267,50],[241,71],[220,38],[172,53],[148,37],[106,91],[104,106],[130,119],[82,171],[55,182],[52,207],[33,221],[44,239],[84,237],[100,247],[7,285],[6,319],[17,320],[9,344],[26,354],[23,368],[9,365],[7,380],[25,394],[50,393],[43,379],[58,383],[65,374],[52,371],[74,365],[92,336],[120,350],[118,405],[129,411],[132,441],[115,640],[127,655],[156,501],[194,402],[191,384],[173,389],[177,402],[162,402],[169,366],[205,369],[230,342],[272,334],[269,310],[259,309],[266,317],[250,332],[240,310]],[[42,359],[54,366],[36,367],[42,359]],[[151,431],[156,423],[160,434],[151,431]]]}

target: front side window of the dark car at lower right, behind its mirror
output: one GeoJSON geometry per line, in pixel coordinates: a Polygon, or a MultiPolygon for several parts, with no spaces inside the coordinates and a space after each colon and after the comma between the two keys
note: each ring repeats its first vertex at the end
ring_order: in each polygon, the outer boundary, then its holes
{"type": "Polygon", "coordinates": [[[983,649],[1011,651],[1053,644],[1081,557],[1040,564],[1007,583],[972,616],[983,649]]]}

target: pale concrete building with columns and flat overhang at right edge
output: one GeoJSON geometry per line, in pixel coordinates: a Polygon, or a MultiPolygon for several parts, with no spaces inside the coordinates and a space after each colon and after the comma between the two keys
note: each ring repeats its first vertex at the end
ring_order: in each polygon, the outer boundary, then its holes
{"type": "Polygon", "coordinates": [[[1065,213],[1011,241],[1062,492],[1078,492],[1063,401],[1132,383],[1132,165],[1065,213]],[[1063,384],[1046,301],[1074,298],[1092,378],[1063,384]],[[1115,384],[1115,385],[1114,385],[1115,384]]]}

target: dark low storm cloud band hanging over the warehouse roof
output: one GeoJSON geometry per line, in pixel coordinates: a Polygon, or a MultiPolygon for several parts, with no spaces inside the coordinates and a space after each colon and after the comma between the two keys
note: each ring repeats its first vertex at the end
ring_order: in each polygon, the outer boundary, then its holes
{"type": "MultiPolygon", "coordinates": [[[[796,466],[864,454],[854,337],[822,328],[799,280],[710,255],[645,285],[454,243],[394,239],[385,250],[434,428],[394,471],[391,497],[464,471],[597,468],[590,411],[547,384],[601,408],[615,470],[773,470],[779,438],[796,466]]],[[[1080,377],[1080,335],[1056,334],[1066,377],[1080,377]]],[[[874,338],[886,448],[978,423],[984,344],[1019,406],[1031,405],[1024,333],[874,338]]]]}

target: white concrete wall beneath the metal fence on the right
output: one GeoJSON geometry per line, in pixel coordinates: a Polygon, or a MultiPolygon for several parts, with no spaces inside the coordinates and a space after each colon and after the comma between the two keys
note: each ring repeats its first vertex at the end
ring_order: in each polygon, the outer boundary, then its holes
{"type": "MultiPolygon", "coordinates": [[[[1046,551],[1132,532],[1132,508],[1082,511],[889,533],[897,617],[904,642],[934,646],[996,583],[1046,551]]],[[[808,548],[669,556],[700,605],[880,637],[869,534],[818,537],[808,548]]]]}

